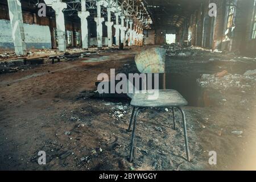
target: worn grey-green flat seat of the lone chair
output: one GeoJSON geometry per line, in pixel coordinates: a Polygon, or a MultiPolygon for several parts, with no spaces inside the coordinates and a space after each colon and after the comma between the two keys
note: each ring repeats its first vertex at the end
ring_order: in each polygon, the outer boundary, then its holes
{"type": "MultiPolygon", "coordinates": [[[[179,107],[188,105],[188,102],[176,90],[158,90],[158,97],[150,100],[156,90],[147,90],[147,93],[135,93],[131,105],[135,107],[179,107]]],[[[156,95],[157,96],[157,95],[156,95]]]]}

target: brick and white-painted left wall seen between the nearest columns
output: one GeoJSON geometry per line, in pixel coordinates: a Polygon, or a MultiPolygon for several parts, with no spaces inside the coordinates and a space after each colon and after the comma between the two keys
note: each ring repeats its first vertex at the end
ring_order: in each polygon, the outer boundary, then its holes
{"type": "MultiPolygon", "coordinates": [[[[28,5],[25,4],[22,5],[23,23],[24,26],[26,27],[25,34],[27,34],[25,35],[25,42],[27,44],[27,48],[56,48],[57,44],[54,31],[54,28],[56,28],[55,16],[47,14],[46,17],[39,17],[38,14],[35,13],[34,9],[30,10],[30,7],[27,6],[28,5]],[[48,42],[49,39],[51,40],[50,42],[48,42]]],[[[0,20],[10,20],[7,3],[6,5],[0,5],[0,20]]],[[[72,47],[81,46],[76,44],[75,37],[75,31],[81,32],[80,22],[76,22],[74,20],[66,18],[65,28],[66,30],[70,30],[73,32],[72,47]]],[[[8,24],[3,22],[2,24],[0,24],[0,35],[6,36],[4,39],[1,39],[3,41],[1,41],[0,43],[0,48],[13,49],[14,44],[12,36],[10,39],[11,27],[8,24]],[[7,31],[5,30],[6,27],[9,27],[10,29],[7,31]]]]}

